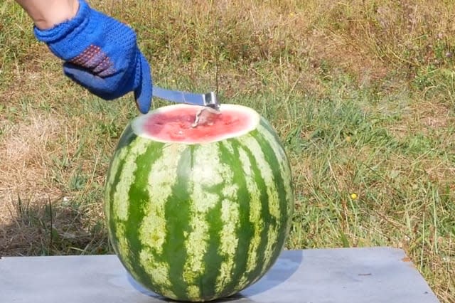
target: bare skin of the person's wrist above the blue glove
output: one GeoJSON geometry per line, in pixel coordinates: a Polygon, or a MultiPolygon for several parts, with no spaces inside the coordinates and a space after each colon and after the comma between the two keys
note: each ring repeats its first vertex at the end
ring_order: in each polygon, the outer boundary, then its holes
{"type": "Polygon", "coordinates": [[[51,28],[77,14],[77,0],[16,0],[40,29],[51,28]]]}

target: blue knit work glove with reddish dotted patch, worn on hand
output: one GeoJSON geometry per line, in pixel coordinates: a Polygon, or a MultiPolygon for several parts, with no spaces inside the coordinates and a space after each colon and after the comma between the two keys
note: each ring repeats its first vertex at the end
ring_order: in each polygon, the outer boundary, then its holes
{"type": "Polygon", "coordinates": [[[39,41],[65,61],[65,75],[76,83],[105,100],[134,91],[139,111],[149,111],[150,67],[132,28],[80,0],[74,18],[46,30],[35,27],[33,31],[39,41]]]}

